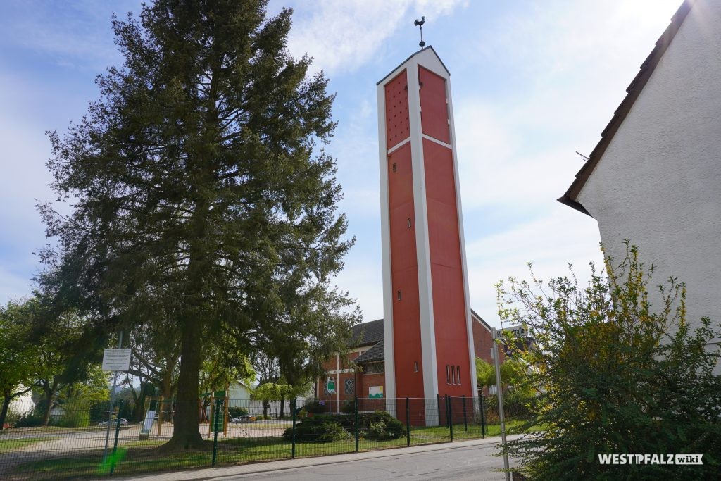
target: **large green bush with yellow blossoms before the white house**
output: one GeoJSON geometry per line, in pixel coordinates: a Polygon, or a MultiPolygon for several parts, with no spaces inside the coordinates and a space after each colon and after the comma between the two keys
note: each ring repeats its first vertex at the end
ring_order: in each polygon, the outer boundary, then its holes
{"type": "MultiPolygon", "coordinates": [[[[636,247],[588,286],[575,277],[498,285],[500,317],[523,323],[536,348],[518,352],[536,369],[526,383],[542,406],[526,427],[545,430],[508,445],[532,479],[719,479],[721,326],[691,330],[675,278],[649,295],[653,266],[636,247]],[[652,306],[650,299],[658,299],[652,306]],[[599,454],[704,454],[702,466],[600,464],[599,454]]],[[[532,271],[531,271],[532,274],[532,271]]]]}

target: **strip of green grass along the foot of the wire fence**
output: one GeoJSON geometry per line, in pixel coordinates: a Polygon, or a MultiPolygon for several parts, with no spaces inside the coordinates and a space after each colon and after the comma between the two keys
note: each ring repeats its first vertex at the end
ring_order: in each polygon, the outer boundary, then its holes
{"type": "MultiPolygon", "coordinates": [[[[518,428],[521,421],[506,423],[508,431],[518,428]]],[[[486,427],[486,436],[498,436],[499,425],[486,427]]],[[[454,440],[481,437],[479,425],[454,425],[454,440]]],[[[411,428],[411,445],[443,443],[451,440],[450,430],[443,426],[411,428]]],[[[37,442],[37,441],[36,441],[37,442]]],[[[184,451],[172,454],[159,452],[156,448],[164,444],[162,440],[131,441],[118,447],[115,475],[133,475],[154,471],[169,471],[191,467],[210,467],[213,455],[212,441],[206,441],[206,448],[198,451],[184,451]]],[[[1,446],[1,445],[0,445],[1,446]]],[[[371,451],[406,446],[406,438],[386,441],[360,439],[358,449],[371,451]]],[[[218,439],[217,464],[244,464],[247,462],[273,461],[291,457],[291,442],[278,436],[265,438],[218,439]]],[[[355,440],[351,437],[331,443],[296,443],[296,457],[328,456],[355,451],[355,440]]],[[[78,477],[107,474],[109,465],[102,466],[102,451],[92,451],[75,458],[46,459],[19,465],[8,479],[52,479],[69,480],[78,477]]]]}

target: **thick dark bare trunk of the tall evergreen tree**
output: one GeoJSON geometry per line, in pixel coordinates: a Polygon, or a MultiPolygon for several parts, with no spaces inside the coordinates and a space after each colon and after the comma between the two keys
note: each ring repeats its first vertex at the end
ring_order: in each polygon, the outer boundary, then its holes
{"type": "Polygon", "coordinates": [[[164,449],[193,449],[203,446],[198,428],[198,374],[200,373],[200,337],[197,319],[186,316],[182,322],[180,374],[173,436],[164,449]]]}

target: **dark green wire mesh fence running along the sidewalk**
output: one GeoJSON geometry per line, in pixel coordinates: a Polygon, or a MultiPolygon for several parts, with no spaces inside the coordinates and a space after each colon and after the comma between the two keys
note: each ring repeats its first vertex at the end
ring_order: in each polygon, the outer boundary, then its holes
{"type": "Polygon", "coordinates": [[[14,403],[0,431],[0,479],[87,479],[497,436],[489,401],[363,398],[330,413],[319,400],[205,400],[198,402],[203,445],[184,451],[163,448],[173,435],[174,401],[141,410],[66,402],[49,412],[14,403]]]}

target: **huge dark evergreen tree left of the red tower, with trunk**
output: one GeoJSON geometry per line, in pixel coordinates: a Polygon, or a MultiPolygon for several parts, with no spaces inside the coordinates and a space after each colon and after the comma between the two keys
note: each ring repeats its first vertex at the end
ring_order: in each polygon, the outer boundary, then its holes
{"type": "Polygon", "coordinates": [[[123,66],[98,76],[80,123],[50,133],[53,187],[73,208],[41,211],[76,290],[108,329],[177,323],[171,446],[201,442],[203,343],[252,346],[288,311],[286,281],[355,319],[328,286],[352,241],[335,162],[314,151],[335,127],[332,95],[286,49],[291,11],[269,18],[266,3],[158,0],[113,19],[123,66]]]}

